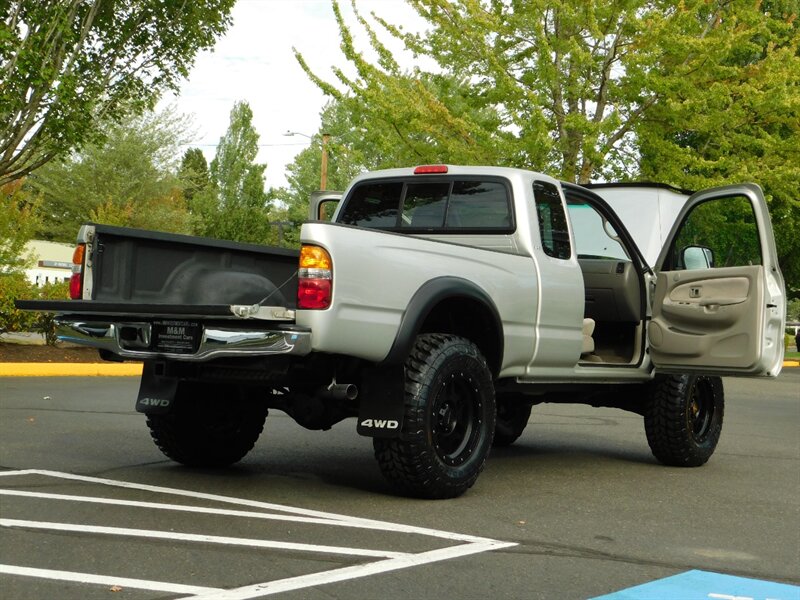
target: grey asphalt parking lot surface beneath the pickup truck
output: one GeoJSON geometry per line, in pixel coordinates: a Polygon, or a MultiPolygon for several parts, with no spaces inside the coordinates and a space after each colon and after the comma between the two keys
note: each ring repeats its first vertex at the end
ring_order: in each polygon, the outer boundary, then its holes
{"type": "MultiPolygon", "coordinates": [[[[635,598],[619,590],[689,572],[776,582],[761,600],[797,600],[800,369],[725,384],[705,467],[658,465],[636,415],[547,405],[472,490],[432,502],[392,495],[352,421],[311,432],[274,412],[240,464],[186,469],[134,412],[135,378],[0,378],[0,589],[635,598]]],[[[649,597],[757,597],[715,582],[649,597]]]]}

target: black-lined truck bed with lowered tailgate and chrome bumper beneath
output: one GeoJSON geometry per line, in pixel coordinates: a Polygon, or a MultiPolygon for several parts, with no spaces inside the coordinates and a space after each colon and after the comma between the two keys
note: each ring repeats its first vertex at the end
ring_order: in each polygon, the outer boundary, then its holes
{"type": "Polygon", "coordinates": [[[125,358],[305,354],[297,251],[87,224],[82,300],[18,300],[58,314],[59,337],[125,358]]]}

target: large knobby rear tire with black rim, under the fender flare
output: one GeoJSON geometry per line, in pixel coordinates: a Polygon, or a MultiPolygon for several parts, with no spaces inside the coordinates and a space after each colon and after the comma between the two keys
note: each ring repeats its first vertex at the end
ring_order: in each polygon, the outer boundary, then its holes
{"type": "Polygon", "coordinates": [[[460,496],[492,446],[494,384],[486,360],[464,338],[420,335],[405,363],[404,391],[400,437],[373,439],[381,472],[409,496],[460,496]]]}

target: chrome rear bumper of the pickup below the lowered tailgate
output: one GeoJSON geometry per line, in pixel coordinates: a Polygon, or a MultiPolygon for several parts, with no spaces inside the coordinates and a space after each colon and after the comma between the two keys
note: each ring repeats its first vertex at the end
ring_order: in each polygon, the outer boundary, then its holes
{"type": "Polygon", "coordinates": [[[268,356],[311,352],[311,331],[302,327],[279,326],[269,330],[241,329],[198,324],[197,348],[164,350],[154,348],[153,324],[143,321],[86,321],[56,318],[60,340],[107,350],[123,358],[150,360],[169,358],[205,361],[224,356],[268,356]]]}

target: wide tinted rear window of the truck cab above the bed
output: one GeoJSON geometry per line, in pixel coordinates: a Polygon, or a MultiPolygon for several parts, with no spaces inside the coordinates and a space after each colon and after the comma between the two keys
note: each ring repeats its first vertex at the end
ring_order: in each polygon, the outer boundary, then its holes
{"type": "Polygon", "coordinates": [[[339,223],[402,231],[513,231],[508,186],[483,179],[365,182],[347,198],[339,223]]]}

